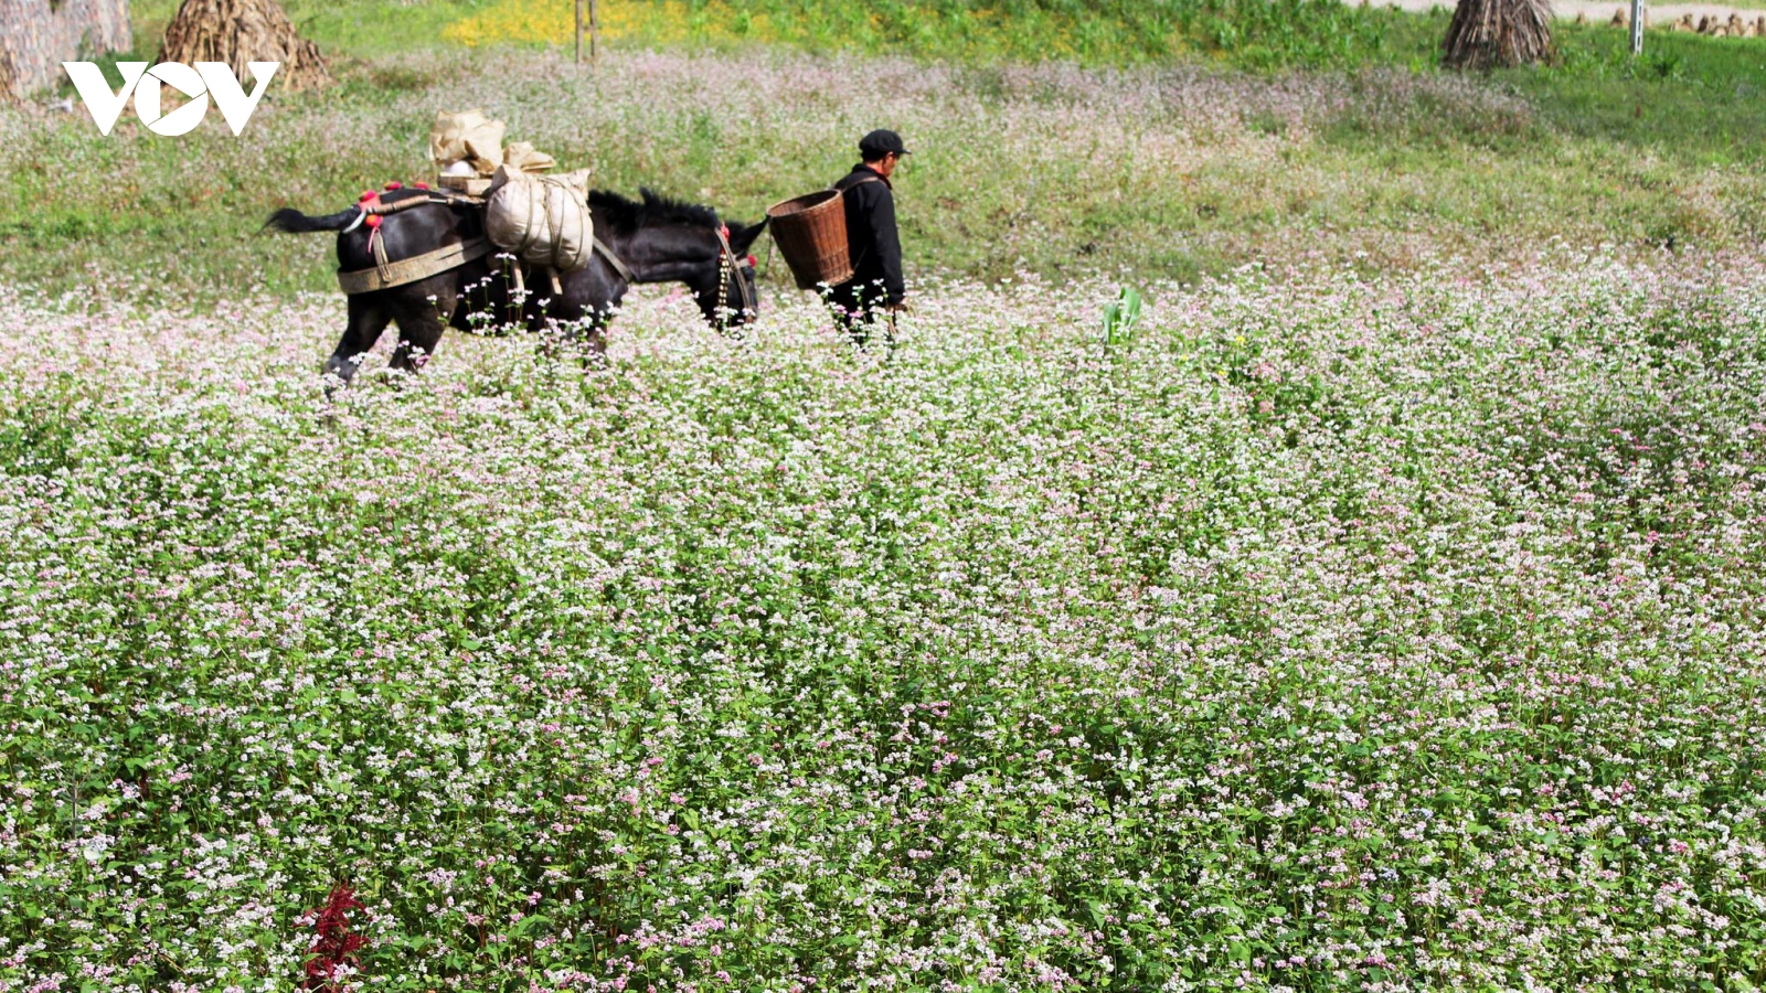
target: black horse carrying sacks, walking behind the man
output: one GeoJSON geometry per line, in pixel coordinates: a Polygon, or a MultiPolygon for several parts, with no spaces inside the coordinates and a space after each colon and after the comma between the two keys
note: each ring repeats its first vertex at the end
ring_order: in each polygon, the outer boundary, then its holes
{"type": "MultiPolygon", "coordinates": [[[[459,244],[484,231],[482,208],[457,200],[440,201],[440,196],[422,189],[385,193],[381,203],[419,196],[431,203],[381,217],[380,235],[389,262],[459,244]]],[[[325,371],[348,383],[389,322],[399,325],[399,346],[390,366],[413,373],[434,355],[449,325],[468,330],[475,323],[514,323],[528,330],[562,330],[599,355],[606,350],[606,325],[634,283],[685,283],[713,329],[728,330],[754,320],[759,286],[747,251],[766,221],[724,228],[710,207],[669,200],[648,189],[639,201],[597,189],[590,193],[588,205],[595,237],[615,258],[597,247],[588,267],[558,276],[562,292],[553,290],[544,270],[533,269],[525,274],[525,292],[517,290],[514,260],[500,258],[502,253],[493,249],[415,283],[351,293],[350,323],[325,371]],[[728,254],[721,230],[728,230],[728,254]]],[[[355,272],[374,269],[371,228],[355,224],[358,217],[355,207],[323,217],[284,207],[270,216],[267,226],[293,233],[339,231],[337,269],[355,272]]]]}

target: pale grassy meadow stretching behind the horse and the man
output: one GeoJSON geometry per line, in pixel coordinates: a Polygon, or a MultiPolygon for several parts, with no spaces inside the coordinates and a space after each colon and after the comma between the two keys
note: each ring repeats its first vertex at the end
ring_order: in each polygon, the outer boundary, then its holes
{"type": "MultiPolygon", "coordinates": [[[[669,62],[660,106],[638,113],[609,101],[634,90],[646,35],[616,39],[599,81],[544,48],[472,51],[445,41],[452,27],[491,14],[489,2],[291,4],[293,16],[341,53],[341,85],[323,95],[272,95],[244,140],[214,125],[166,141],[129,122],[99,138],[81,113],[12,117],[0,196],[32,208],[0,217],[0,233],[32,251],[11,253],[0,269],[72,288],[101,263],[171,299],[214,299],[260,283],[277,293],[323,290],[316,242],[256,237],[258,221],[286,203],[334,208],[381,180],[422,175],[424,122],[434,108],[466,104],[517,117],[516,134],[565,161],[593,163],[597,182],[625,191],[650,184],[738,217],[828,182],[848,164],[853,134],[892,124],[931,148],[902,184],[913,267],[982,279],[1021,267],[1049,277],[1196,279],[1296,256],[1390,267],[1552,237],[1637,249],[1766,237],[1766,104],[1757,99],[1766,42],[1754,39],[1653,34],[1651,55],[1635,62],[1623,53],[1621,32],[1563,27],[1558,65],[1459,80],[1432,67],[1445,14],[1333,7],[1332,16],[1362,25],[1339,39],[1349,48],[1337,55],[1197,48],[1160,65],[1146,64],[1151,49],[1104,48],[1081,62],[1118,65],[1026,72],[1012,51],[975,48],[975,35],[961,32],[952,37],[966,57],[955,62],[881,28],[860,34],[848,46],[855,53],[793,57],[789,49],[816,48],[846,27],[844,14],[798,12],[789,21],[796,34],[775,25],[782,41],[770,44],[689,32],[683,37],[708,48],[698,60],[669,62]],[[1229,69],[1302,58],[1351,69],[1229,69]],[[826,92],[841,99],[798,99],[782,87],[802,71],[826,78],[826,92]],[[917,85],[915,72],[950,90],[917,85]],[[509,74],[510,87],[496,85],[509,74]],[[694,74],[717,76],[726,88],[706,90],[694,74]],[[834,80],[841,74],[853,80],[834,80]],[[876,83],[858,85],[867,76],[876,83]],[[774,95],[758,101],[754,90],[774,95]],[[887,113],[853,113],[876,97],[890,101],[887,113]],[[1208,111],[1189,113],[1173,99],[1208,111]],[[970,118],[992,125],[968,127],[970,118]],[[1026,143],[1030,133],[1040,143],[1026,143]],[[41,161],[60,168],[30,166],[41,161]],[[192,173],[192,161],[205,168],[192,173]],[[113,196],[95,196],[101,189],[113,196]],[[194,251],[168,267],[173,244],[194,251]]],[[[643,9],[671,16],[666,5],[643,9]]],[[[1121,21],[1143,9],[1097,12],[1121,21]]],[[[143,49],[170,11],[138,5],[143,49]]],[[[989,23],[994,35],[1019,39],[1014,44],[1035,48],[1058,30],[1053,19],[1010,14],[1017,7],[1000,11],[989,23]]],[[[1084,23],[1081,14],[1061,18],[1068,27],[1060,30],[1084,23]]]]}

